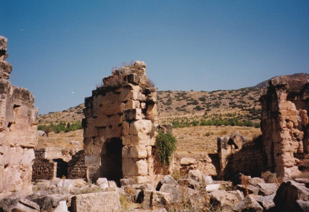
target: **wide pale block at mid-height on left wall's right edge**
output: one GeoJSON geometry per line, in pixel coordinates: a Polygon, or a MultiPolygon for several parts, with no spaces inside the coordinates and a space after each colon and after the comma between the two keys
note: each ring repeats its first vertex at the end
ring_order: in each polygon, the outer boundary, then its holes
{"type": "Polygon", "coordinates": [[[11,124],[8,140],[11,146],[36,147],[38,142],[37,126],[11,124]]]}

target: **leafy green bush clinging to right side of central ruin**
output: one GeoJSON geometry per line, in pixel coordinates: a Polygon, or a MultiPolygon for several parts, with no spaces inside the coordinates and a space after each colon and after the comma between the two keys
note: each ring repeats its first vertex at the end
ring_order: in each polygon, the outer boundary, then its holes
{"type": "Polygon", "coordinates": [[[177,140],[170,133],[163,133],[160,130],[155,139],[155,150],[163,165],[169,165],[172,154],[176,151],[177,140]]]}

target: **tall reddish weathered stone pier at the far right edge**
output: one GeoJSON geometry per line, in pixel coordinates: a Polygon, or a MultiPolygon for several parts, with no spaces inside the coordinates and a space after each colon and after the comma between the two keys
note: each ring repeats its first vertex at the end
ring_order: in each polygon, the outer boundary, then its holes
{"type": "Polygon", "coordinates": [[[261,131],[267,169],[291,176],[309,167],[309,83],[280,83],[270,81],[260,98],[261,131]]]}

